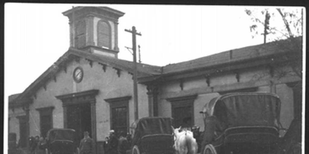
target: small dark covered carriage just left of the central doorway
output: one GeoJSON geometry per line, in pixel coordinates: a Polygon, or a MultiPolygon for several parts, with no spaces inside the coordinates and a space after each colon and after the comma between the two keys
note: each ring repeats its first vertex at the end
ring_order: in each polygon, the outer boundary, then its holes
{"type": "Polygon", "coordinates": [[[47,151],[49,154],[76,154],[75,130],[53,128],[47,132],[47,151]]]}

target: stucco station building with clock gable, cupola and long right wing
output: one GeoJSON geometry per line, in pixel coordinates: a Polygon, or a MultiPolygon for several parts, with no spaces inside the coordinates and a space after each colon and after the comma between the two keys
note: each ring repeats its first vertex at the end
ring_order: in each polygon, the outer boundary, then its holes
{"type": "MultiPolygon", "coordinates": [[[[17,134],[22,147],[29,136],[73,128],[78,139],[90,132],[102,153],[109,130],[129,133],[135,121],[133,62],[117,56],[118,19],[124,14],[109,7],[63,12],[70,21],[69,50],[22,93],[8,98],[9,133],[17,134]]],[[[302,44],[301,38],[294,40],[302,44]]],[[[302,78],[295,72],[302,60],[296,53],[302,51],[291,44],[280,40],[163,67],[138,63],[138,118],[172,117],[175,127],[196,125],[203,131],[199,112],[210,99],[270,92],[280,97],[281,124],[288,128],[302,116],[302,78]]]]}

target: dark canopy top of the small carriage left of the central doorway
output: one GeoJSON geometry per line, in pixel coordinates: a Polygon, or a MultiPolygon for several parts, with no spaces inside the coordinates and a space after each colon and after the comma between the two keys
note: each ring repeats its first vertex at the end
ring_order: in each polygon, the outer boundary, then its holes
{"type": "Polygon", "coordinates": [[[54,140],[70,140],[74,141],[75,130],[66,128],[53,128],[47,132],[47,139],[52,142],[54,140]]]}

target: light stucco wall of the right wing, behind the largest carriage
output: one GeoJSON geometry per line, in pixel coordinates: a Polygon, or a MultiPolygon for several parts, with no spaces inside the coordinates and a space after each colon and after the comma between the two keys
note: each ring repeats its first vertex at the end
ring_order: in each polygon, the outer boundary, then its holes
{"type": "MultiPolygon", "coordinates": [[[[280,68],[282,69],[282,68],[280,68]]],[[[275,75],[276,76],[275,72],[275,75]]],[[[299,80],[299,79],[298,79],[299,80]]],[[[160,88],[159,95],[159,115],[171,116],[171,103],[166,98],[185,96],[192,91],[200,92],[194,100],[194,124],[201,126],[200,130],[204,130],[204,122],[199,111],[210,101],[210,99],[218,96],[217,92],[211,92],[211,87],[222,87],[238,84],[235,74],[223,74],[210,77],[210,87],[206,83],[203,76],[182,79],[183,90],[180,88],[179,81],[168,81],[160,88]],[[184,95],[181,95],[184,94],[184,95]]],[[[294,118],[293,107],[293,91],[283,82],[297,81],[293,76],[285,76],[280,79],[271,78],[267,67],[256,67],[239,71],[239,84],[252,83],[254,87],[258,87],[256,92],[271,92],[277,94],[281,99],[281,123],[284,128],[288,128],[294,118]],[[273,86],[271,86],[271,82],[273,86]]],[[[241,87],[239,87],[241,88],[241,87]]],[[[232,90],[232,89],[231,89],[232,90]]],[[[235,89],[236,90],[236,89],[235,89]]],[[[282,135],[282,133],[281,133],[282,135]]]]}

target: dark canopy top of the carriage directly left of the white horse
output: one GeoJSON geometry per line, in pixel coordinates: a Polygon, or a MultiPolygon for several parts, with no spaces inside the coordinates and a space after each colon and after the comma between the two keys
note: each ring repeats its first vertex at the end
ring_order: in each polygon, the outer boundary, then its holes
{"type": "Polygon", "coordinates": [[[145,117],[136,120],[131,129],[140,137],[152,134],[172,134],[172,119],[163,117],[145,117]]]}

